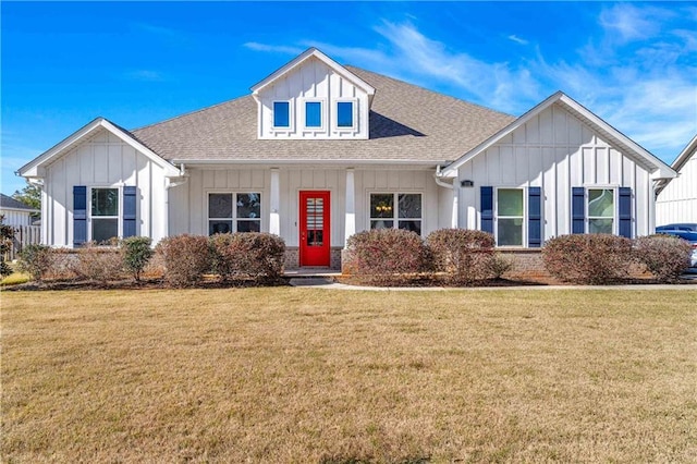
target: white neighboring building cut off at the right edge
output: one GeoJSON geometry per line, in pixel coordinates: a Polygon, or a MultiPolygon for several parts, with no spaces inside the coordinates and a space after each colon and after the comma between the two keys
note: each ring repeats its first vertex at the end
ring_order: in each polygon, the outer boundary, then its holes
{"type": "Polygon", "coordinates": [[[677,178],[659,187],[656,224],[697,223],[697,135],[673,162],[677,178]]]}

